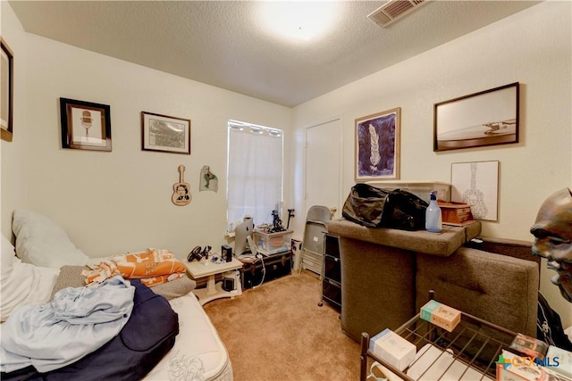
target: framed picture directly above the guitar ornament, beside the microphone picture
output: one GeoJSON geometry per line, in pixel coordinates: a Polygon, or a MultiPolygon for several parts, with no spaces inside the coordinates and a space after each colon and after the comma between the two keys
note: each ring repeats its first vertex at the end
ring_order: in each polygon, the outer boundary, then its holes
{"type": "Polygon", "coordinates": [[[141,112],[141,149],[190,154],[190,120],[141,112]]]}

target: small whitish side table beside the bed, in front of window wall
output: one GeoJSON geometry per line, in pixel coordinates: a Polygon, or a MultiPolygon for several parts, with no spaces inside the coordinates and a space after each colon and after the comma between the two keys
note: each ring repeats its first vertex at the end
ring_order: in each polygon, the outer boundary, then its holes
{"type": "Polygon", "coordinates": [[[242,294],[242,287],[240,286],[240,275],[238,269],[242,268],[242,262],[236,258],[232,258],[230,262],[214,263],[206,261],[203,258],[200,261],[190,261],[185,263],[189,274],[194,279],[200,277],[208,277],[206,281],[206,288],[197,288],[193,290],[193,294],[197,295],[198,302],[205,305],[207,302],[213,301],[218,298],[233,298],[234,296],[242,294]],[[222,274],[227,271],[234,271],[234,286],[232,291],[223,290],[223,282],[216,282],[214,276],[222,274]]]}

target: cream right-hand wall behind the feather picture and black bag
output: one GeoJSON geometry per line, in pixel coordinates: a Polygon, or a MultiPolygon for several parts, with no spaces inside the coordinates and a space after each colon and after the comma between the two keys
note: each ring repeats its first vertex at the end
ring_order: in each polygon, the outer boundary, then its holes
{"type": "MultiPolygon", "coordinates": [[[[570,2],[535,5],[315,98],[294,110],[296,137],[302,141],[307,126],[341,116],[342,188],[348,195],[354,184],[354,120],[401,107],[400,178],[449,182],[452,162],[499,161],[499,220],[484,221],[482,234],[532,241],[529,229],[540,204],[572,185],[570,19],[570,2]],[[433,152],[433,104],[512,82],[521,84],[519,143],[433,152]]],[[[302,145],[293,157],[295,168],[303,168],[302,145]]],[[[296,173],[292,193],[303,195],[303,173],[296,173]]],[[[303,210],[303,200],[296,202],[303,210]]],[[[571,325],[570,304],[548,280],[553,271],[542,274],[543,293],[571,325]]]]}

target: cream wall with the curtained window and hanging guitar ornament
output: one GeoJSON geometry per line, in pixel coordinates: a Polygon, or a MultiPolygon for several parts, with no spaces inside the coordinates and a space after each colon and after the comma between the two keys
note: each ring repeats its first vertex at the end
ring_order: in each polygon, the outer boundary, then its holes
{"type": "MultiPolygon", "coordinates": [[[[4,18],[4,8],[12,10],[2,5],[4,18]]],[[[13,24],[8,41],[23,35],[13,24]]],[[[289,134],[290,108],[218,87],[32,34],[16,41],[14,54],[27,63],[18,68],[26,81],[16,82],[26,107],[16,112],[16,142],[2,143],[3,191],[20,193],[3,197],[4,234],[10,232],[13,209],[25,207],[55,220],[89,256],[157,247],[184,258],[207,243],[220,250],[226,243],[227,120],[289,134]],[[111,106],[112,152],[61,148],[60,97],[111,106]],[[191,154],[142,151],[141,111],[190,119],[191,154]],[[11,168],[18,158],[23,165],[11,168]],[[186,206],[171,201],[180,164],[193,197],[186,206]],[[217,193],[198,192],[203,165],[219,178],[217,193]],[[18,186],[6,175],[16,177],[18,186]]],[[[270,211],[268,217],[272,220],[270,211]]]]}

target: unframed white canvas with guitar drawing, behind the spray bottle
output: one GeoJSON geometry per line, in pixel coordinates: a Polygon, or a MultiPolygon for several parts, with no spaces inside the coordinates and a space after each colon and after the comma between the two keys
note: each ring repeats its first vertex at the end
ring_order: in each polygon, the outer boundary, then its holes
{"type": "Polygon", "coordinates": [[[468,203],[475,219],[498,220],[499,162],[453,162],[450,200],[468,203]]]}

